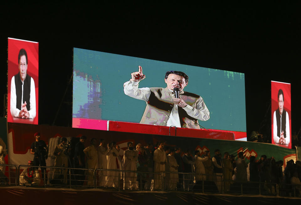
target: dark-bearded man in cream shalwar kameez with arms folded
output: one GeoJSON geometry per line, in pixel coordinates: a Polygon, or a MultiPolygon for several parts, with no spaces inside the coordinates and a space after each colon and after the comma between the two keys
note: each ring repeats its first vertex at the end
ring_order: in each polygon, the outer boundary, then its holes
{"type": "Polygon", "coordinates": [[[128,142],[128,149],[124,150],[123,155],[123,167],[126,171],[134,172],[124,172],[124,189],[132,189],[133,184],[136,184],[136,161],[138,159],[138,153],[134,151],[133,143],[128,142]]]}

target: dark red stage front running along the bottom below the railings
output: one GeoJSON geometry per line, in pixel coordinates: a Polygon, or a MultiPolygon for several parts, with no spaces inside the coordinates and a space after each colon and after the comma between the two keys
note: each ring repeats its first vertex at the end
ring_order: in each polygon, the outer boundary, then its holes
{"type": "Polygon", "coordinates": [[[263,195],[233,196],[193,192],[122,191],[114,188],[69,189],[0,187],[3,204],[297,204],[301,198],[263,195]]]}

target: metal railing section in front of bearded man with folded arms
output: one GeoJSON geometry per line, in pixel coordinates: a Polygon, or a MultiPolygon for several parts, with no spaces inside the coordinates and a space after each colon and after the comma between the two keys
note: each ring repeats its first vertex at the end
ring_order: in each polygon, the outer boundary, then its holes
{"type": "Polygon", "coordinates": [[[114,187],[120,190],[161,190],[163,191],[163,173],[140,172],[113,169],[96,169],[97,187],[114,187]],[[118,178],[117,178],[118,177],[118,178]]]}

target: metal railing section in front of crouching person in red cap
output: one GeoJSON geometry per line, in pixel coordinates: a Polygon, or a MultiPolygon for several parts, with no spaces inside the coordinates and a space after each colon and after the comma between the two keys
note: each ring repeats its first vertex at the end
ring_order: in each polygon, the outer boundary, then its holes
{"type": "MultiPolygon", "coordinates": [[[[26,168],[27,169],[27,168],[26,168]]],[[[94,169],[78,169],[78,168],[67,168],[67,167],[48,167],[48,166],[29,166],[29,165],[19,165],[18,166],[18,178],[21,178],[19,185],[41,185],[40,181],[43,179],[43,186],[69,186],[71,188],[74,186],[81,187],[95,187],[95,170],[94,169]],[[50,175],[46,177],[46,174],[40,172],[33,172],[33,170],[26,170],[20,173],[20,167],[34,167],[35,170],[39,168],[50,169],[50,175]],[[30,171],[30,172],[28,172],[30,171]],[[27,173],[26,173],[27,172],[27,173]],[[22,176],[21,176],[22,174],[22,176]],[[30,177],[30,175],[31,177],[30,177]],[[34,174],[35,176],[33,176],[34,174]],[[37,176],[38,175],[38,176],[37,176]],[[41,176],[42,175],[42,176],[41,176]],[[52,176],[51,176],[52,175],[52,176]],[[34,182],[34,183],[32,183],[34,182]]]]}

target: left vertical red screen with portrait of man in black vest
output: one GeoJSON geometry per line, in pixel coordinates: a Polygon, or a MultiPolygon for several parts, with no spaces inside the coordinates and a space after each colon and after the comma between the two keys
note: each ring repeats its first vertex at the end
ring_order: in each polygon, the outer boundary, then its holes
{"type": "Polygon", "coordinates": [[[8,38],[8,122],[38,124],[39,43],[8,38]]]}

